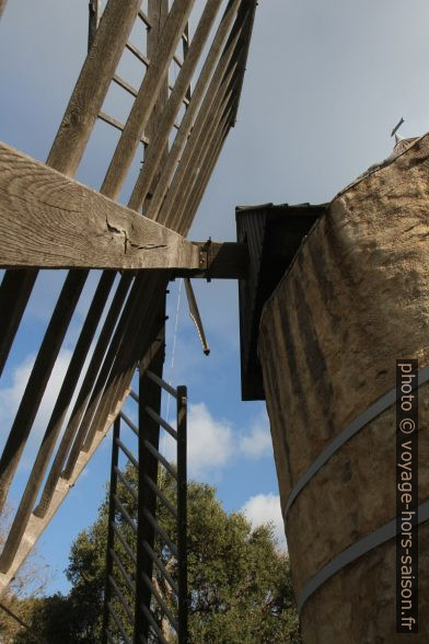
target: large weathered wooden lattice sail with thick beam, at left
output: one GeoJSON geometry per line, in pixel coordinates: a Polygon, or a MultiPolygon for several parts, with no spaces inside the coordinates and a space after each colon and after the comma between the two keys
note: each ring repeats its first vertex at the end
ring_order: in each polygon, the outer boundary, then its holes
{"type": "Polygon", "coordinates": [[[234,244],[208,251],[184,238],[235,123],[255,8],[255,0],[108,0],[98,24],[92,1],[89,55],[46,165],[0,146],[0,373],[38,271],[70,268],[0,457],[0,509],[90,269],[104,269],[0,555],[0,593],[112,426],[136,366],[163,343],[169,279],[216,276],[216,266],[219,276],[243,274],[234,244]],[[144,51],[130,38],[135,27],[147,30],[144,51]],[[141,65],[139,88],[118,72],[124,53],[141,65]],[[125,123],[104,111],[112,84],[132,97],[125,123]],[[97,119],[120,133],[100,193],[74,181],[97,119]],[[141,146],[126,208],[117,199],[141,146]]]}

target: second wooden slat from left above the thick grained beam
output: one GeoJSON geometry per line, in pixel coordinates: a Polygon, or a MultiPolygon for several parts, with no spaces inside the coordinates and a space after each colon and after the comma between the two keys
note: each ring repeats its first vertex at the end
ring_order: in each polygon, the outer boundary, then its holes
{"type": "Polygon", "coordinates": [[[195,0],[175,0],[165,20],[160,46],[151,57],[151,64],[103,182],[102,192],[113,198],[118,196],[124,184],[194,2],[195,0]]]}

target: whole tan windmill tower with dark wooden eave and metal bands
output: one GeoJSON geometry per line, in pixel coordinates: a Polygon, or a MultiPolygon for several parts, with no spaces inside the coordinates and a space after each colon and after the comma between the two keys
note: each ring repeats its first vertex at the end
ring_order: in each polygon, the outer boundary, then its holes
{"type": "Polygon", "coordinates": [[[267,403],[312,644],[429,636],[428,180],[424,135],[331,204],[237,209],[243,399],[267,403]]]}

